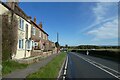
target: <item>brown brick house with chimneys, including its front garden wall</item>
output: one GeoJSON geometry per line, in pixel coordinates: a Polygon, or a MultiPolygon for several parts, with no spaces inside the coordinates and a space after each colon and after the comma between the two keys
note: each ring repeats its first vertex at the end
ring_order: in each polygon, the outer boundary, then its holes
{"type": "Polygon", "coordinates": [[[33,42],[32,47],[32,55],[40,55],[40,52],[48,51],[49,40],[48,34],[42,28],[42,22],[39,25],[36,23],[36,17],[32,21],[32,29],[31,29],[31,38],[33,42]],[[36,51],[39,50],[39,53],[35,54],[36,51]]]}

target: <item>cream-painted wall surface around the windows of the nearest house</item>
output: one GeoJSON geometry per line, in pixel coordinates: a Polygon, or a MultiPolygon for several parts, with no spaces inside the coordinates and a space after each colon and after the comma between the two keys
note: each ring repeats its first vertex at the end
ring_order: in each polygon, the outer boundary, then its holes
{"type": "MultiPolygon", "coordinates": [[[[17,16],[18,22],[19,22],[19,19],[21,17],[19,17],[18,15],[16,15],[16,16],[17,16]]],[[[31,51],[26,50],[26,39],[25,39],[26,24],[28,24],[28,39],[31,38],[31,24],[28,23],[26,20],[24,20],[24,30],[21,30],[19,28],[20,25],[18,25],[18,40],[19,39],[24,39],[24,41],[23,41],[23,49],[19,49],[19,43],[17,43],[17,52],[16,52],[16,55],[14,56],[15,59],[30,57],[30,54],[31,54],[31,51]]]]}

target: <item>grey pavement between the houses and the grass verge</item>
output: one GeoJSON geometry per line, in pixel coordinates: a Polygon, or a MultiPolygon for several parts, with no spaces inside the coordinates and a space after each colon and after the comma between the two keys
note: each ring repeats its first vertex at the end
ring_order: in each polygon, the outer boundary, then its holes
{"type": "Polygon", "coordinates": [[[59,55],[59,53],[58,54],[53,54],[49,57],[46,57],[45,59],[43,59],[43,60],[41,60],[37,63],[33,63],[25,69],[15,70],[15,71],[13,71],[12,73],[10,73],[6,76],[3,76],[3,79],[7,79],[7,78],[26,78],[29,74],[34,73],[34,72],[38,71],[41,67],[45,66],[47,63],[49,63],[57,55],[59,55]]]}

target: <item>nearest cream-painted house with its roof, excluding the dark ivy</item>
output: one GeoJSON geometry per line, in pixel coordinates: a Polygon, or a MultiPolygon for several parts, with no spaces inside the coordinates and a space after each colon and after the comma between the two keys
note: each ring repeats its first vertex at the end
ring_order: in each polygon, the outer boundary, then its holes
{"type": "MultiPolygon", "coordinates": [[[[0,15],[4,13],[11,13],[17,17],[18,20],[18,43],[16,54],[12,55],[12,59],[21,59],[31,56],[32,40],[31,40],[31,22],[17,3],[5,4],[0,2],[0,15]]],[[[5,14],[9,15],[9,14],[5,14]]]]}

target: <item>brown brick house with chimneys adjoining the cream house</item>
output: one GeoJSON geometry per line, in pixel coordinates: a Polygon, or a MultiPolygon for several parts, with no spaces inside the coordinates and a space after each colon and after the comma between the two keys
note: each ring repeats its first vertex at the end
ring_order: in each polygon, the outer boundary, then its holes
{"type": "Polygon", "coordinates": [[[42,29],[42,23],[37,25],[36,17],[34,21],[31,20],[32,23],[32,40],[33,40],[33,49],[34,50],[44,50],[45,49],[45,42],[48,41],[48,34],[42,29]]]}

